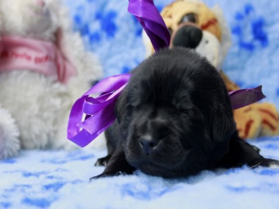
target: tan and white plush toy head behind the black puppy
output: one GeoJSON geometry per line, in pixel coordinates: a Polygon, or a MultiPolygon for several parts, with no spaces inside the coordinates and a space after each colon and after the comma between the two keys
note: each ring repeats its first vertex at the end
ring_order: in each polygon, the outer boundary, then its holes
{"type": "MultiPolygon", "coordinates": [[[[179,0],[166,6],[161,13],[171,35],[171,47],[195,49],[216,68],[220,68],[230,46],[230,32],[218,7],[209,8],[199,0],[179,0]]],[[[146,55],[154,49],[143,33],[146,55]]]]}

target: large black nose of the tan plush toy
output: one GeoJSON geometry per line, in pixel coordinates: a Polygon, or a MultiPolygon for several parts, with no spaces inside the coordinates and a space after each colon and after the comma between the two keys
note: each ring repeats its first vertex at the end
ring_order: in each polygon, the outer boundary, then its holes
{"type": "Polygon", "coordinates": [[[193,25],[182,26],[176,33],[172,40],[172,45],[176,47],[186,47],[195,49],[202,40],[202,30],[193,25]]]}

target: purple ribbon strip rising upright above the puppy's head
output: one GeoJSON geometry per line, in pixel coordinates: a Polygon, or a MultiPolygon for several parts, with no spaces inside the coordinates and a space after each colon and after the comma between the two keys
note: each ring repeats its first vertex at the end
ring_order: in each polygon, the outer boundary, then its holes
{"type": "Polygon", "coordinates": [[[129,0],[128,12],[135,15],[156,51],[169,47],[169,30],[153,0],[129,0]]]}

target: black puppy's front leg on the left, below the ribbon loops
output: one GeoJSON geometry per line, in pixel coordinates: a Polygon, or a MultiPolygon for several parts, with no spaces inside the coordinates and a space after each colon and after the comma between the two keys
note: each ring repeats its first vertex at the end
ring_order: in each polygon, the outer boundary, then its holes
{"type": "Polygon", "coordinates": [[[107,163],[105,171],[103,171],[103,173],[98,176],[90,178],[90,180],[107,176],[118,176],[121,173],[132,174],[134,171],[135,167],[132,167],[130,164],[128,164],[124,151],[115,150],[112,153],[112,157],[110,157],[109,162],[107,163]]]}

